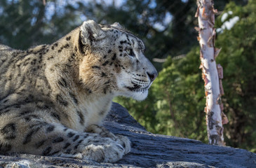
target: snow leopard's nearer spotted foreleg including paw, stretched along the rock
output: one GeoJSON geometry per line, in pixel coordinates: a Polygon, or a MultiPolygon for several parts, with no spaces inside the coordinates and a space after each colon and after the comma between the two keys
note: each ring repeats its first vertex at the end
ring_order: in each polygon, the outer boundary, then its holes
{"type": "Polygon", "coordinates": [[[125,150],[121,144],[99,134],[76,132],[36,115],[0,125],[0,149],[4,153],[31,153],[67,158],[116,162],[125,150]]]}

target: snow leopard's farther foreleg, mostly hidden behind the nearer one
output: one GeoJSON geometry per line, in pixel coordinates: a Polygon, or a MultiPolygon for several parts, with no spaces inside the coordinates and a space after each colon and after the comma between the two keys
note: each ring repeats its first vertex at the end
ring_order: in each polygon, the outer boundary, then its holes
{"type": "Polygon", "coordinates": [[[112,132],[109,132],[105,127],[102,127],[100,125],[90,125],[86,132],[100,134],[101,137],[109,137],[110,139],[121,144],[121,146],[123,146],[123,148],[125,149],[125,153],[130,152],[130,140],[127,137],[119,134],[113,134],[112,132]]]}

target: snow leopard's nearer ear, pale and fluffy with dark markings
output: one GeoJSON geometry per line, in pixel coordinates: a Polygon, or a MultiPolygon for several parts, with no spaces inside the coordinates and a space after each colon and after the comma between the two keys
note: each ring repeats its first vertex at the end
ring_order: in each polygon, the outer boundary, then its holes
{"type": "Polygon", "coordinates": [[[83,43],[83,45],[93,45],[94,41],[100,41],[106,36],[105,31],[93,20],[83,22],[80,31],[81,43],[83,43]]]}

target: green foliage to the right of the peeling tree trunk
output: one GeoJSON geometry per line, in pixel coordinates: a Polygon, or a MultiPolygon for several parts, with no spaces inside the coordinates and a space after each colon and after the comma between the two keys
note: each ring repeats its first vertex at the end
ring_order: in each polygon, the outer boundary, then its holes
{"type": "MultiPolygon", "coordinates": [[[[216,41],[222,47],[217,62],[224,68],[222,100],[230,120],[226,141],[230,146],[251,150],[256,148],[256,1],[244,7],[229,3],[225,11],[229,10],[233,11],[229,18],[238,16],[239,21],[216,41]]],[[[221,24],[220,18],[217,23],[221,24]]]]}

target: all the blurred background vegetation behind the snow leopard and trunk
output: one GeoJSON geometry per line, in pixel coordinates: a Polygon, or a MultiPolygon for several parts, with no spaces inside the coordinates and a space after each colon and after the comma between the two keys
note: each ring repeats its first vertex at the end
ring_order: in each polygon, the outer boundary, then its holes
{"type": "MultiPolygon", "coordinates": [[[[145,55],[159,71],[144,102],[115,99],[150,132],[207,140],[206,104],[196,40],[196,0],[1,0],[0,43],[17,49],[53,43],[81,25],[119,22],[147,46],[145,55]]],[[[224,69],[224,125],[227,146],[256,151],[256,2],[215,1],[216,28],[235,16],[231,29],[217,34],[224,69]],[[222,15],[232,11],[225,20],[222,15]]]]}

